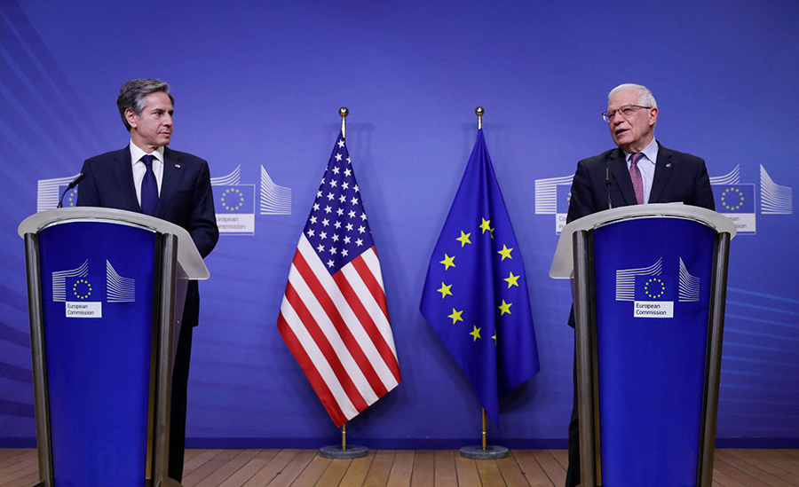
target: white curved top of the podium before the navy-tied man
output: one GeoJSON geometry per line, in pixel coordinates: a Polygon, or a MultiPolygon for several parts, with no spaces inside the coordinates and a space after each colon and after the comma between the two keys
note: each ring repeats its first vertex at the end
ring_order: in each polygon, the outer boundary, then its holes
{"type": "Polygon", "coordinates": [[[56,208],[48,209],[40,213],[28,216],[22,221],[17,232],[20,237],[25,237],[26,233],[36,233],[40,230],[54,225],[65,224],[75,221],[91,222],[102,221],[115,224],[130,224],[143,227],[153,232],[171,233],[178,237],[178,264],[186,273],[186,279],[204,280],[210,278],[210,272],[197,247],[194,247],[194,240],[186,229],[177,224],[173,224],[147,216],[143,213],[125,211],[114,208],[97,207],[76,207],[76,208],[56,208]]]}

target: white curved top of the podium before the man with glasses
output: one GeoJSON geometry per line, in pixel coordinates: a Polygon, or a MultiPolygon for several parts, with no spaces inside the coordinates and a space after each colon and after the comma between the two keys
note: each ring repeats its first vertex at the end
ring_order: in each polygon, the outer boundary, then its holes
{"type": "Polygon", "coordinates": [[[570,279],[574,269],[574,255],[572,253],[572,235],[581,230],[590,230],[605,224],[613,224],[621,220],[632,218],[684,218],[706,224],[716,230],[716,233],[730,233],[730,238],[737,232],[735,224],[730,218],[716,213],[708,208],[684,205],[683,203],[656,203],[651,205],[630,205],[604,211],[597,211],[588,216],[574,220],[563,227],[555,248],[555,257],[550,267],[550,278],[570,279]]]}

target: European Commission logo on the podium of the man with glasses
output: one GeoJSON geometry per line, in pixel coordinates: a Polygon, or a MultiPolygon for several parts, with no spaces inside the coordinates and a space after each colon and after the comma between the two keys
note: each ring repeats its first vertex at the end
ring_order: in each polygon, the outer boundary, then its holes
{"type": "Polygon", "coordinates": [[[633,318],[674,318],[674,302],[698,302],[701,288],[682,258],[673,271],[663,271],[663,257],[649,267],[616,271],[616,301],[633,302],[633,318]]]}

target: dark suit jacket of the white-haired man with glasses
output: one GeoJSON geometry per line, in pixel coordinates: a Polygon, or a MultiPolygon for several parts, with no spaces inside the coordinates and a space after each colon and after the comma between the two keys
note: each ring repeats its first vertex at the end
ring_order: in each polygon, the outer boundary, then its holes
{"type": "MultiPolygon", "coordinates": [[[[618,147],[577,163],[566,223],[607,209],[608,192],[613,208],[637,204],[624,151],[618,147]],[[608,171],[610,188],[606,185],[608,171]]],[[[716,202],[705,161],[689,153],[667,149],[659,142],[649,202],[683,202],[715,210],[716,202]]],[[[569,326],[574,328],[574,308],[569,316],[569,326]]]]}

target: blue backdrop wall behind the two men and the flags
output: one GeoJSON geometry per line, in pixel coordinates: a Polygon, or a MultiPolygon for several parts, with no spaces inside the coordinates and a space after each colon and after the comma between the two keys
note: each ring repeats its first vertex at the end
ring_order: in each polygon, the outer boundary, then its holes
{"type": "Polygon", "coordinates": [[[479,402],[418,306],[484,106],[542,367],[502,400],[489,435],[565,446],[574,336],[568,284],[548,277],[558,221],[576,161],[613,147],[607,91],[639,82],[661,108],[655,136],[706,159],[717,207],[740,224],[718,444],[797,446],[797,49],[791,1],[0,0],[0,445],[35,438],[17,225],[54,208],[84,159],[128,144],[115,99],[150,77],[170,82],[170,146],[210,162],[226,225],[201,285],[188,444],[336,442],[276,319],[340,106],[403,379],[349,437],[398,448],[479,439],[479,402]]]}

